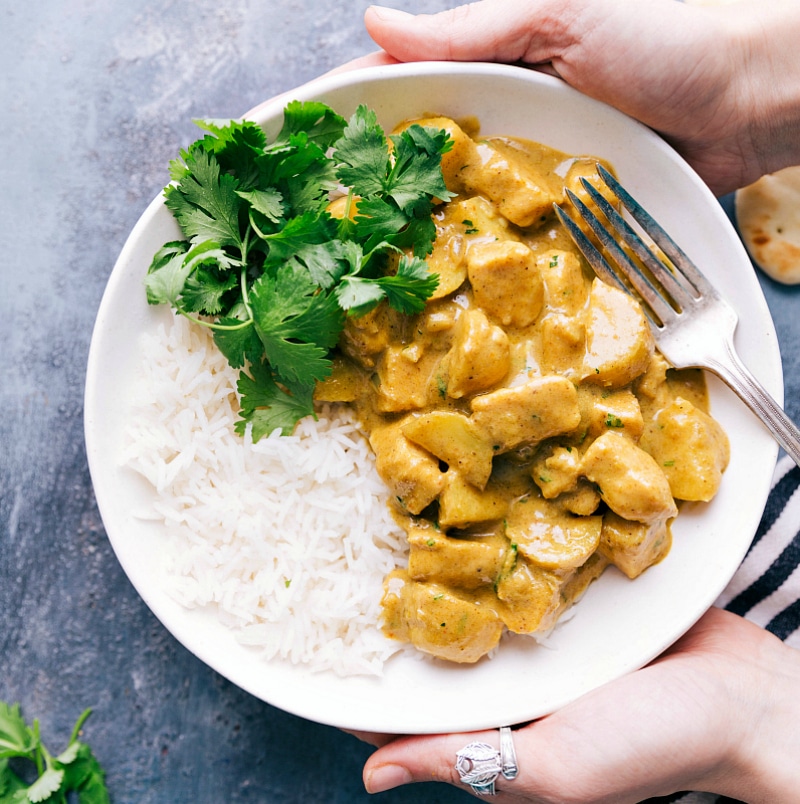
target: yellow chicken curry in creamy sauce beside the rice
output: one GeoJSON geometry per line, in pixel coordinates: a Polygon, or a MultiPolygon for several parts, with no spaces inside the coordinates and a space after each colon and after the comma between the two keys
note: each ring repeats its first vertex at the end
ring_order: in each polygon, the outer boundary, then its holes
{"type": "Polygon", "coordinates": [[[548,632],[610,564],[660,561],[676,500],[713,497],[728,440],[702,374],[668,367],[552,212],[581,177],[600,186],[597,160],[415,122],[454,140],[438,289],[417,316],[351,318],[317,398],[355,406],[408,534],[385,633],[475,662],[504,629],[548,632]]]}

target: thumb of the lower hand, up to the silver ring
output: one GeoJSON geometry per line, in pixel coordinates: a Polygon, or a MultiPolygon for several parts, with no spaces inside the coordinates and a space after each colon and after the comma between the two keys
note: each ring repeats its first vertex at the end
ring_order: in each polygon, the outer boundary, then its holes
{"type": "MultiPolygon", "coordinates": [[[[456,769],[457,754],[469,743],[487,743],[500,749],[497,730],[471,734],[402,737],[378,749],[364,766],[364,786],[368,793],[382,793],[412,782],[446,782],[470,792],[456,769]]],[[[522,770],[520,770],[520,776],[522,770]]],[[[518,781],[498,776],[497,801],[511,801],[520,791],[518,781]],[[509,793],[510,796],[504,796],[509,793]]]]}

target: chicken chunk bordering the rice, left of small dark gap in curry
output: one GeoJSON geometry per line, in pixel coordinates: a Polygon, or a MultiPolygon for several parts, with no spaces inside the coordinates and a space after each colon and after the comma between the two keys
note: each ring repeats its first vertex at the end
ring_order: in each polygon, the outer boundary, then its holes
{"type": "Polygon", "coordinates": [[[412,444],[398,424],[376,428],[369,437],[375,453],[375,468],[397,502],[412,514],[430,505],[445,486],[439,461],[412,444]]]}

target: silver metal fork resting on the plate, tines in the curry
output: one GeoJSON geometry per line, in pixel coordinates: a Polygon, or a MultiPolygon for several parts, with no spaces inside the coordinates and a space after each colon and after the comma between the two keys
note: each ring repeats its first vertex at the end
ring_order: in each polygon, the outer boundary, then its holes
{"type": "Polygon", "coordinates": [[[610,262],[566,209],[556,214],[578,248],[605,282],[639,301],[658,348],[675,368],[705,368],[722,379],[764,422],[776,441],[800,466],[800,430],[781,406],[744,366],[733,345],[738,321],[735,310],[720,296],[675,241],[602,165],[598,172],[645,234],[669,261],[648,246],[608,200],[586,179],[582,184],[612,231],[567,190],[575,209],[588,224],[610,262]],[[636,255],[644,269],[620,243],[636,255]]]}

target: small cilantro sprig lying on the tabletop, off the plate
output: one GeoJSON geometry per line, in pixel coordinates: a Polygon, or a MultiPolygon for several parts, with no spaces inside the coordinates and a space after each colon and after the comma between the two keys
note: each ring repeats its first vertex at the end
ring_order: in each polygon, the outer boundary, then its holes
{"type": "Polygon", "coordinates": [[[90,714],[90,709],[83,712],[67,747],[53,755],[41,740],[38,720],[29,726],[19,704],[0,701],[0,804],[66,804],[69,793],[79,804],[109,804],[105,773],[89,746],[78,740],[90,714]],[[9,764],[15,758],[32,763],[36,779],[30,784],[9,764]]]}

